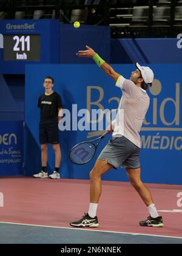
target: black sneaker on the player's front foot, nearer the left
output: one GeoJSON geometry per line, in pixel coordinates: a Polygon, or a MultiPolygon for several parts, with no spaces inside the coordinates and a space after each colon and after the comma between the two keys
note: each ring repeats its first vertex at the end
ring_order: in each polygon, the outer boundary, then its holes
{"type": "Polygon", "coordinates": [[[83,216],[82,219],[79,219],[79,221],[71,222],[70,226],[72,227],[98,227],[98,218],[95,216],[95,218],[91,218],[88,213],[83,216]]]}

